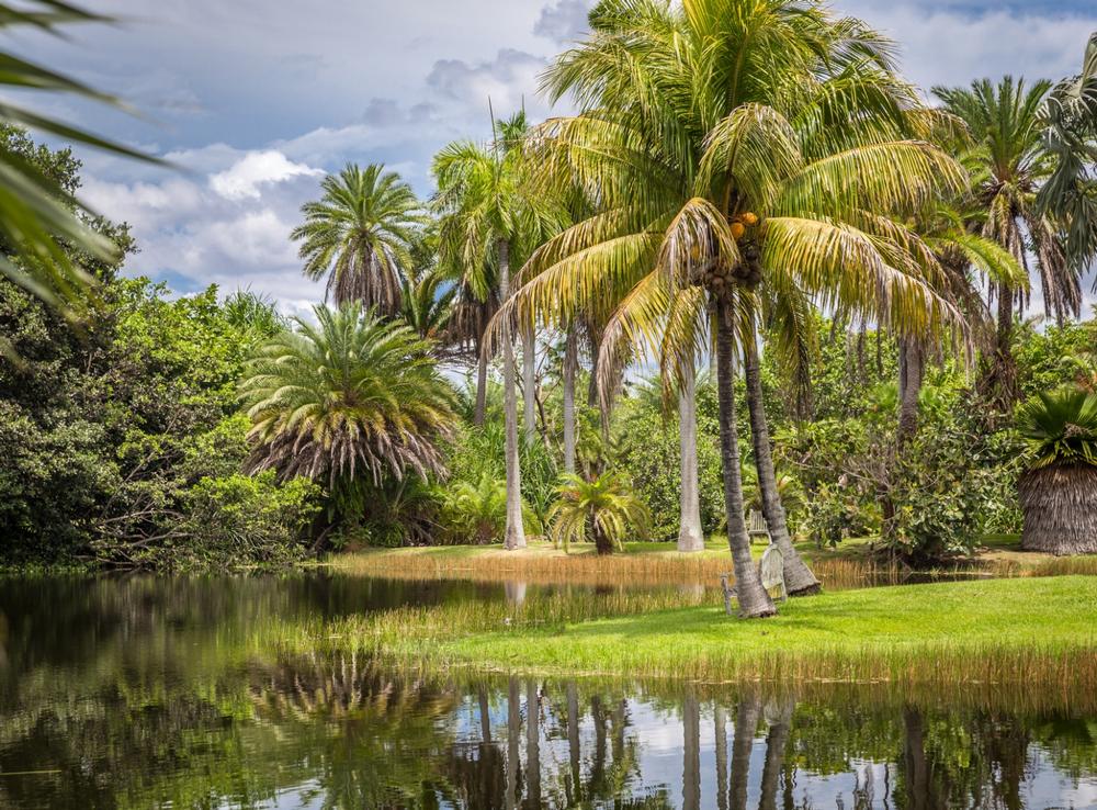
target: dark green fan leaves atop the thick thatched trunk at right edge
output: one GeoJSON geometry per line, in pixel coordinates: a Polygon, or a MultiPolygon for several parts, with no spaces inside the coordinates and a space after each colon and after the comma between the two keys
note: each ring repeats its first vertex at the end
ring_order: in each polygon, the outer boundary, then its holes
{"type": "Polygon", "coordinates": [[[1040,393],[1021,407],[1017,425],[1032,453],[1030,469],[1097,466],[1097,394],[1076,387],[1040,393]]]}

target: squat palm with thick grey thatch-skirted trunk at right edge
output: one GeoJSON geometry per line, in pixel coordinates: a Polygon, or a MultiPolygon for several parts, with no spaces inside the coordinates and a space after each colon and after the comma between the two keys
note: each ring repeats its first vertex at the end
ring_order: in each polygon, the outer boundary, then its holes
{"type": "Polygon", "coordinates": [[[1041,393],[1021,408],[1018,429],[1032,453],[1019,483],[1021,548],[1097,553],[1097,394],[1041,393]]]}

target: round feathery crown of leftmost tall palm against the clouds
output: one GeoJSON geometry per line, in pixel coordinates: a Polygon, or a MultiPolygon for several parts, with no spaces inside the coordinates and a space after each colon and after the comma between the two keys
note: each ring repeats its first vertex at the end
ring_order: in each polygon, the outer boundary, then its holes
{"type": "Polygon", "coordinates": [[[416,227],[427,222],[411,187],[381,164],[348,164],[320,181],[323,196],[301,206],[305,275],[328,277],[336,306],[359,301],[386,316],[400,310],[400,281],[410,267],[416,227]]]}

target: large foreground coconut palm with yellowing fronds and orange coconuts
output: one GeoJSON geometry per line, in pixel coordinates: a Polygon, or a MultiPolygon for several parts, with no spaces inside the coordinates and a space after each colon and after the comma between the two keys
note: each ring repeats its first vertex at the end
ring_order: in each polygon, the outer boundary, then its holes
{"type": "Polygon", "coordinates": [[[695,363],[714,324],[740,612],[769,616],[743,519],[733,389],[759,284],[905,331],[947,322],[954,313],[921,278],[931,262],[909,250],[917,237],[881,214],[959,190],[963,173],[929,144],[881,136],[874,122],[916,102],[858,21],[787,0],[607,0],[592,19],[545,79],[584,112],[547,122],[533,145],[541,165],[597,190],[600,207],[539,249],[505,310],[566,319],[626,301],[619,331],[658,346],[668,379],[695,363]],[[681,315],[668,317],[671,303],[681,315]]]}

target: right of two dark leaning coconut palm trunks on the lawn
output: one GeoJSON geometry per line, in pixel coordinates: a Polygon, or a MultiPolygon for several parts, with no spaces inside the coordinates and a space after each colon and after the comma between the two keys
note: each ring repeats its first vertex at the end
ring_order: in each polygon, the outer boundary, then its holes
{"type": "Polygon", "coordinates": [[[792,596],[817,594],[819,581],[796,552],[789,537],[789,525],[784,517],[784,506],[777,490],[777,472],[773,454],[769,447],[769,425],[766,420],[766,405],[762,400],[761,363],[758,358],[758,341],[750,340],[744,349],[743,371],[747,382],[747,409],[750,412],[750,438],[754,443],[755,466],[758,470],[758,490],[761,493],[761,510],[766,516],[769,536],[784,559],[784,586],[792,596]]]}

